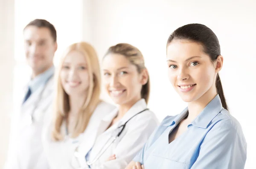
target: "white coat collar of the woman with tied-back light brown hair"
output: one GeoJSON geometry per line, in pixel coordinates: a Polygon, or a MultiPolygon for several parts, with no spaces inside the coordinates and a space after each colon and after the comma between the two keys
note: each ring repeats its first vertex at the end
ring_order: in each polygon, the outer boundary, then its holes
{"type": "MultiPolygon", "coordinates": [[[[127,120],[129,120],[132,116],[136,115],[137,113],[143,111],[147,108],[147,103],[145,102],[145,99],[140,99],[137,101],[129,110],[125,113],[125,115],[121,118],[119,121],[119,124],[125,123],[127,120]]],[[[106,115],[102,120],[105,122],[110,122],[113,120],[114,117],[116,117],[118,113],[118,108],[113,110],[110,114],[106,115]]]]}

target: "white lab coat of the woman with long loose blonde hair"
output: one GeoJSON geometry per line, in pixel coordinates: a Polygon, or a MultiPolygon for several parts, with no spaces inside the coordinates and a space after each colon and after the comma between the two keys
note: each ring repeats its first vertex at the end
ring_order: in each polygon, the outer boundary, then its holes
{"type": "MultiPolygon", "coordinates": [[[[49,123],[43,131],[43,145],[50,169],[72,169],[70,164],[76,147],[80,145],[81,140],[84,140],[87,145],[92,146],[100,120],[115,108],[115,106],[109,103],[100,102],[93,112],[87,128],[76,138],[70,138],[66,135],[62,141],[52,140],[52,123],[49,123]]],[[[61,132],[66,133],[65,123],[61,126],[61,132]]]]}

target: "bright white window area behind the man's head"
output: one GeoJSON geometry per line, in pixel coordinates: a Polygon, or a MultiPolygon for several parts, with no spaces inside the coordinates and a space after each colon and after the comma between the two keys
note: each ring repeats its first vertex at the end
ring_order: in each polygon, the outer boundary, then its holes
{"type": "MultiPolygon", "coordinates": [[[[82,0],[16,0],[15,1],[15,77],[14,102],[17,103],[22,87],[28,81],[30,69],[23,49],[23,29],[34,19],[48,20],[57,31],[58,49],[54,64],[62,52],[72,43],[82,40],[82,0]],[[60,6],[61,5],[61,6],[60,6]]],[[[19,107],[15,106],[17,111],[19,107]]]]}

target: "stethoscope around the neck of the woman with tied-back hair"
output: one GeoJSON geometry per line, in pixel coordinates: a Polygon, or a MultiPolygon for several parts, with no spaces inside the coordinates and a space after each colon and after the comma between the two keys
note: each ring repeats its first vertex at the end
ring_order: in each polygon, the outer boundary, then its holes
{"type": "MultiPolygon", "coordinates": [[[[139,115],[140,113],[142,112],[145,112],[146,110],[148,109],[144,109],[143,111],[141,112],[138,112],[136,115],[132,116],[131,118],[129,118],[129,120],[127,120],[124,124],[122,124],[121,126],[117,127],[113,133],[111,134],[111,137],[106,141],[106,143],[102,146],[102,148],[99,150],[99,152],[97,153],[97,155],[95,156],[95,158],[92,160],[92,161],[88,161],[87,160],[87,155],[85,156],[85,160],[86,160],[86,164],[89,168],[91,168],[90,166],[93,165],[94,163],[96,163],[97,160],[99,160],[99,158],[103,155],[103,153],[108,149],[108,147],[111,146],[111,144],[117,139],[117,137],[119,137],[122,132],[124,131],[125,129],[125,126],[126,126],[126,123],[128,123],[133,117],[139,115]],[[112,139],[112,141],[110,143],[108,143],[110,140],[112,139]],[[108,143],[108,144],[107,144],[108,143]]],[[[90,151],[89,151],[90,152],[90,151]]],[[[88,153],[87,153],[88,154],[88,153]]],[[[76,158],[76,161],[78,164],[79,163],[79,160],[78,158],[81,157],[80,156],[80,153],[78,152],[78,147],[76,148],[75,152],[74,152],[74,156],[76,158]]],[[[80,166],[81,167],[81,164],[80,166]]]]}

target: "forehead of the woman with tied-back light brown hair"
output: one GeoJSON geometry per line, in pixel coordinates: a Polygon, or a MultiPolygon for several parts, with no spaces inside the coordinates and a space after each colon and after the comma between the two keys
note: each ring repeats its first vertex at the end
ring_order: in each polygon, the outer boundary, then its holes
{"type": "Polygon", "coordinates": [[[102,67],[104,69],[119,69],[120,67],[133,67],[134,65],[122,54],[108,54],[104,57],[102,67]]]}

